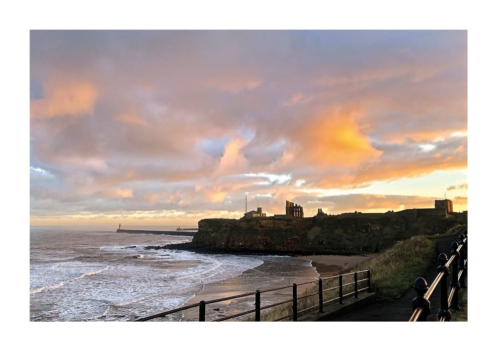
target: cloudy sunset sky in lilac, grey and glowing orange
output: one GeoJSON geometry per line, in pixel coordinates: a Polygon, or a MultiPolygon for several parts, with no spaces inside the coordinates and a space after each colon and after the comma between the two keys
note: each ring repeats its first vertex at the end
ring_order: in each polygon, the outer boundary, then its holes
{"type": "Polygon", "coordinates": [[[468,210],[467,30],[30,30],[31,225],[468,210]]]}

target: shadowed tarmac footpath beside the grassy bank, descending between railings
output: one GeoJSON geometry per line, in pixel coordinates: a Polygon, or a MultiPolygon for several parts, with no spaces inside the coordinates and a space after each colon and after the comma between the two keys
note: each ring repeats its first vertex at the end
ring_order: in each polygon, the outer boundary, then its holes
{"type": "MultiPolygon", "coordinates": [[[[452,251],[452,243],[459,242],[459,234],[435,239],[437,245],[437,253],[444,253],[450,257],[452,251]]],[[[438,258],[437,254],[437,258],[438,258]]],[[[428,286],[434,281],[437,276],[437,270],[440,266],[437,258],[431,263],[430,268],[423,276],[428,286]]],[[[450,285],[452,272],[450,272],[447,284],[450,285]]],[[[467,279],[465,280],[467,284],[467,279]]],[[[413,281],[414,285],[414,281],[413,281]]],[[[440,284],[439,284],[440,285],[440,284]]],[[[409,321],[413,314],[412,302],[417,296],[414,288],[411,288],[404,295],[395,299],[385,299],[378,296],[376,293],[361,293],[358,298],[348,298],[343,301],[342,305],[331,304],[324,308],[324,313],[311,313],[306,316],[299,317],[299,321],[336,321],[336,322],[374,322],[374,321],[409,321]]],[[[451,310],[451,321],[468,321],[468,290],[459,290],[459,310],[451,310]]],[[[438,321],[437,313],[440,309],[440,287],[437,286],[431,297],[430,314],[426,321],[438,321]]]]}

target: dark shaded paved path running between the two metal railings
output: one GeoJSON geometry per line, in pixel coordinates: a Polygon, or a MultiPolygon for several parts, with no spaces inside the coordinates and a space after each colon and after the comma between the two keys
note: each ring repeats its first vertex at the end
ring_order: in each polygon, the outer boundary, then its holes
{"type": "MultiPolygon", "coordinates": [[[[459,241],[459,234],[460,232],[453,236],[435,239],[437,244],[437,252],[443,252],[447,255],[447,257],[450,257],[450,252],[452,251],[451,245],[454,241],[459,241]]],[[[428,282],[428,285],[430,285],[437,276],[438,266],[440,266],[440,263],[435,259],[431,263],[427,273],[423,276],[423,278],[428,282]]],[[[451,277],[452,273],[450,273],[450,276],[447,279],[447,284],[450,284],[451,277]]],[[[362,306],[350,312],[336,312],[330,314],[328,317],[320,318],[320,321],[409,321],[411,315],[413,314],[412,302],[415,297],[416,292],[414,291],[414,288],[410,289],[404,295],[396,299],[385,300],[375,297],[373,302],[367,304],[366,306],[362,306]]],[[[431,313],[426,320],[437,321],[437,312],[440,309],[439,287],[435,288],[429,300],[431,304],[431,313]]],[[[457,312],[452,312],[451,320],[467,321],[467,289],[461,289],[459,291],[459,305],[461,306],[461,309],[457,312]]]]}

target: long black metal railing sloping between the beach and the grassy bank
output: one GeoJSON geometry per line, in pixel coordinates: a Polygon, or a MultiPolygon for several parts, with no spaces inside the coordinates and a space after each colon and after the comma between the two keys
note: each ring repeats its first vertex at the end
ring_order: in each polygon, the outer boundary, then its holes
{"type": "MultiPolygon", "coordinates": [[[[267,290],[256,290],[255,292],[248,292],[240,295],[234,295],[224,298],[219,298],[215,300],[209,301],[200,301],[195,304],[191,304],[188,306],[183,306],[180,308],[175,308],[173,310],[161,312],[154,314],[152,316],[143,317],[135,320],[135,322],[143,322],[151,319],[161,318],[168,315],[172,315],[177,312],[183,313],[183,311],[191,310],[193,308],[198,308],[198,321],[205,322],[206,317],[206,306],[211,304],[216,304],[223,301],[234,300],[239,298],[247,298],[249,296],[253,296],[252,301],[254,301],[254,308],[248,311],[243,311],[240,313],[236,313],[230,316],[225,316],[222,318],[213,319],[211,321],[226,321],[226,320],[240,320],[240,317],[244,317],[244,320],[247,321],[261,321],[261,311],[267,312],[270,309],[274,309],[278,306],[281,311],[279,311],[278,317],[275,319],[270,319],[271,321],[281,321],[281,320],[291,320],[297,321],[299,315],[305,315],[311,313],[313,311],[318,310],[319,313],[323,313],[323,308],[325,305],[331,302],[337,302],[338,304],[343,304],[343,300],[351,297],[353,295],[354,298],[358,298],[358,294],[361,292],[371,292],[371,271],[360,271],[360,272],[352,272],[348,274],[340,274],[338,276],[319,279],[317,281],[308,281],[300,284],[293,283],[292,285],[281,286],[273,289],[267,290]],[[333,284],[338,281],[337,284],[333,284]],[[316,283],[318,286],[316,288],[316,283]],[[298,294],[298,287],[303,287],[306,284],[311,284],[311,288],[306,288],[303,293],[298,294]],[[266,305],[262,305],[261,295],[263,293],[268,292],[283,292],[285,289],[292,289],[292,298],[285,299],[283,301],[268,303],[266,305]],[[326,299],[326,300],[325,300],[326,299]],[[286,305],[286,306],[284,306],[286,305]],[[291,310],[288,308],[291,305],[291,310]],[[289,313],[287,312],[289,311],[289,313]]],[[[273,310],[274,311],[274,310],[273,310]]],[[[269,315],[269,314],[267,314],[269,315]]]]}

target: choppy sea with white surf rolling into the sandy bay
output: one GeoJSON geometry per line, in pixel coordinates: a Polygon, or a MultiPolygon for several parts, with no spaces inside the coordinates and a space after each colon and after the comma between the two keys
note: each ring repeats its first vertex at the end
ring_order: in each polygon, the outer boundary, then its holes
{"type": "MultiPolygon", "coordinates": [[[[176,226],[123,228],[176,230],[176,226]]],[[[194,232],[179,236],[117,233],[116,229],[117,226],[30,227],[29,321],[134,321],[200,299],[299,284],[319,276],[305,258],[198,254],[162,248],[189,242],[194,232]]],[[[277,296],[264,298],[270,301],[277,296]]],[[[217,308],[207,309],[206,319],[253,308],[252,299],[212,306],[217,308]]],[[[153,321],[197,319],[198,309],[153,321]]]]}

